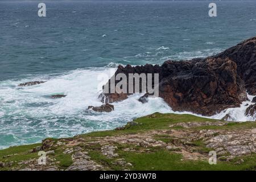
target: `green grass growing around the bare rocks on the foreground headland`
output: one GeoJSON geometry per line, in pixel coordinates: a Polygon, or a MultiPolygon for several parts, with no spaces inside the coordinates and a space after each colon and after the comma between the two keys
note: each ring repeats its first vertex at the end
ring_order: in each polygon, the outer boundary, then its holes
{"type": "MultiPolygon", "coordinates": [[[[198,131],[201,129],[212,129],[212,130],[245,130],[253,129],[256,127],[256,122],[242,122],[242,123],[228,123],[225,126],[200,126],[193,127],[190,129],[185,129],[183,127],[171,127],[175,123],[180,122],[216,122],[220,120],[208,119],[196,117],[189,114],[161,114],[154,113],[147,115],[145,117],[134,119],[137,125],[132,126],[127,124],[123,130],[110,130],[110,131],[97,131],[88,134],[77,135],[73,138],[65,138],[63,140],[73,140],[78,138],[85,139],[86,142],[101,140],[101,138],[106,136],[117,136],[126,134],[143,134],[151,130],[190,130],[198,131]]],[[[52,139],[54,144],[60,139],[52,139]]],[[[155,140],[162,140],[165,143],[175,143],[179,140],[175,136],[170,136],[168,134],[158,134],[154,136],[155,140]]],[[[24,146],[15,146],[6,148],[5,150],[0,150],[0,162],[13,162],[14,165],[11,167],[16,167],[19,162],[28,159],[38,158],[38,152],[31,153],[30,150],[40,143],[30,144],[24,146]],[[17,154],[17,155],[13,155],[17,154]],[[7,155],[11,155],[6,157],[7,155]]],[[[202,140],[196,140],[192,142],[193,151],[199,152],[200,154],[207,155],[211,148],[207,148],[202,140]]],[[[118,158],[109,159],[101,153],[101,145],[98,143],[80,143],[78,146],[89,151],[89,156],[92,160],[104,166],[104,169],[109,170],[122,170],[122,169],[132,169],[132,170],[255,170],[256,169],[256,154],[248,156],[240,156],[232,159],[230,162],[224,162],[218,160],[217,165],[210,165],[207,160],[185,160],[181,154],[177,154],[175,151],[167,151],[160,147],[148,147],[143,148],[140,146],[135,146],[132,144],[114,143],[118,149],[115,151],[119,154],[118,158]],[[123,151],[124,148],[133,148],[136,152],[123,151]],[[113,162],[116,159],[124,158],[126,162],[133,164],[133,167],[122,167],[113,162]],[[244,162],[237,164],[239,160],[243,159],[244,162]]],[[[66,169],[71,166],[72,154],[63,154],[66,146],[57,146],[51,148],[54,150],[55,154],[52,157],[56,159],[57,166],[60,169],[66,169]]],[[[26,167],[26,166],[24,166],[26,167]]],[[[10,168],[0,168],[0,170],[8,170],[10,168]]]]}

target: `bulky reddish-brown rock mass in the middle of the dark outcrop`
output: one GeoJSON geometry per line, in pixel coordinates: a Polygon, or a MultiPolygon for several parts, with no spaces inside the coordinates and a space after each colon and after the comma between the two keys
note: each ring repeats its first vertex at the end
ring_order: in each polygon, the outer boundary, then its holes
{"type": "Polygon", "coordinates": [[[213,115],[228,107],[238,107],[246,100],[244,82],[237,76],[234,61],[192,60],[184,62],[185,68],[181,63],[167,61],[162,65],[167,71],[175,68],[159,85],[159,96],[173,110],[213,115]]]}

